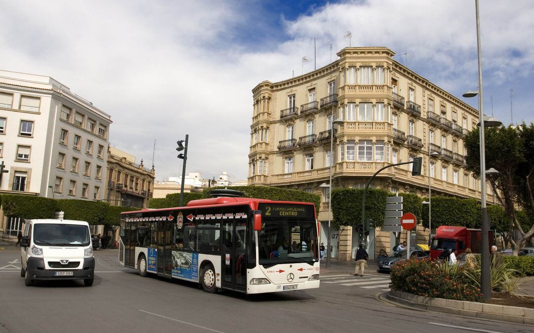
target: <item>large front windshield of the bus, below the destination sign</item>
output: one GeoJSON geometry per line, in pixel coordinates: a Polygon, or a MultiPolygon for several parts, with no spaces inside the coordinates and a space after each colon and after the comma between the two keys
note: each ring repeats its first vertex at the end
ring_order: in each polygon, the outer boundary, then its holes
{"type": "Polygon", "coordinates": [[[306,262],[318,260],[317,224],[310,220],[263,219],[258,231],[260,265],[306,262]]]}

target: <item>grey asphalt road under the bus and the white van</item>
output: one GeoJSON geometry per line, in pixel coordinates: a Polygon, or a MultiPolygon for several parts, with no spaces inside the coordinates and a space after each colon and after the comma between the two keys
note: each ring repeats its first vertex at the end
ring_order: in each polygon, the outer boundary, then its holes
{"type": "Polygon", "coordinates": [[[140,277],[95,252],[95,284],[26,287],[20,250],[0,250],[0,332],[533,332],[533,326],[415,311],[380,301],[388,275],[321,275],[321,288],[267,295],[203,292],[196,284],[140,277]],[[374,279],[374,280],[372,280],[374,279]],[[348,280],[355,280],[349,281],[348,280]],[[361,280],[361,281],[360,281],[361,280]],[[344,281],[344,282],[343,282],[344,281]],[[373,281],[379,281],[375,283],[373,281]],[[332,283],[326,283],[332,282],[332,283]],[[359,283],[359,284],[357,284],[359,283]],[[376,288],[363,288],[364,286],[376,288]]]}

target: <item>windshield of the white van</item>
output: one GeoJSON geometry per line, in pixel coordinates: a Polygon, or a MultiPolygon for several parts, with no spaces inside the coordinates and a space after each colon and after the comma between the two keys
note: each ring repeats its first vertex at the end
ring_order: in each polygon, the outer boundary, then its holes
{"type": "Polygon", "coordinates": [[[36,223],[33,233],[36,245],[72,245],[90,244],[89,228],[80,224],[36,223]]]}

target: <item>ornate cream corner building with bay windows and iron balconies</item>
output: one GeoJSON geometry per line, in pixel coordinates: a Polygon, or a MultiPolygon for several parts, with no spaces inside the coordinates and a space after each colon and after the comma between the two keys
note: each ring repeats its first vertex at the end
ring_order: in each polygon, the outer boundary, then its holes
{"type": "MultiPolygon", "coordinates": [[[[394,55],[383,47],[345,48],[316,71],[259,83],[253,89],[249,184],[318,193],[318,220],[327,222],[329,189],[319,185],[328,183],[331,164],[333,189],[364,188],[381,167],[423,157],[421,176],[412,176],[410,166],[392,167],[371,186],[428,196],[430,183],[432,195],[480,198],[480,181],[465,169],[463,142],[478,111],[394,55]],[[341,125],[333,124],[337,119],[341,125]]],[[[321,224],[326,244],[328,223],[321,224]]],[[[391,233],[371,230],[362,240],[354,231],[331,231],[333,257],[354,258],[361,241],[371,258],[381,249],[390,252],[391,233]]]]}

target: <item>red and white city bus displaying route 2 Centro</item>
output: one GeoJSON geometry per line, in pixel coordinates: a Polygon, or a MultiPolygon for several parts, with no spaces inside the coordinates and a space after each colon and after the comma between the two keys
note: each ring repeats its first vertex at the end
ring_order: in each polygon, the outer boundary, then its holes
{"type": "Polygon", "coordinates": [[[192,200],[186,207],[122,213],[119,262],[140,276],[198,282],[206,292],[318,288],[317,230],[310,203],[192,200]]]}

